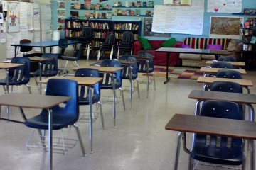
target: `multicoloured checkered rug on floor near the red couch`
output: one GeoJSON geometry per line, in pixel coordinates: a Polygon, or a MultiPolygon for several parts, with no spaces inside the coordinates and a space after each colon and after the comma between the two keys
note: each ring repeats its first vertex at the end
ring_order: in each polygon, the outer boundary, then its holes
{"type": "MultiPolygon", "coordinates": [[[[156,77],[166,77],[166,68],[154,67],[154,74],[156,77]]],[[[146,74],[143,74],[146,76],[146,74]]],[[[149,74],[152,76],[152,74],[149,74]]],[[[196,80],[198,77],[202,77],[203,72],[197,72],[192,69],[169,69],[170,78],[176,79],[193,79],[196,80]]]]}

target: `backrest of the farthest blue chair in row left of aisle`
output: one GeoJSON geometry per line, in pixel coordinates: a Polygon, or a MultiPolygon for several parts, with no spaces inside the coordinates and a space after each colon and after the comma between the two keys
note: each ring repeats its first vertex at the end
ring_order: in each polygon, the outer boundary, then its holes
{"type": "MultiPolygon", "coordinates": [[[[141,51],[137,55],[138,57],[154,57],[153,52],[141,51]]],[[[138,59],[138,72],[146,72],[146,60],[138,59]]],[[[154,72],[154,59],[150,58],[149,60],[149,72],[154,72]]]]}

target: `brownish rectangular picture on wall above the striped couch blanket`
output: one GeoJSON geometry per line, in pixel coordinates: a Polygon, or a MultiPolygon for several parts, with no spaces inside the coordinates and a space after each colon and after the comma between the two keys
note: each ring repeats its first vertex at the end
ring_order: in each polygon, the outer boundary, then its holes
{"type": "Polygon", "coordinates": [[[243,17],[211,16],[210,38],[242,39],[239,33],[243,17]]]}

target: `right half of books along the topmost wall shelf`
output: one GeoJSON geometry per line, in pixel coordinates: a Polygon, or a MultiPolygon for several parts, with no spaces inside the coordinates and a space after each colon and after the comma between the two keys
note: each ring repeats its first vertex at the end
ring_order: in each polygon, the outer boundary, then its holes
{"type": "Polygon", "coordinates": [[[137,1],[137,2],[130,2],[126,1],[125,6],[122,1],[114,1],[114,7],[134,7],[134,8],[153,8],[154,7],[154,1],[137,1]],[[148,3],[148,4],[147,4],[148,3]]]}

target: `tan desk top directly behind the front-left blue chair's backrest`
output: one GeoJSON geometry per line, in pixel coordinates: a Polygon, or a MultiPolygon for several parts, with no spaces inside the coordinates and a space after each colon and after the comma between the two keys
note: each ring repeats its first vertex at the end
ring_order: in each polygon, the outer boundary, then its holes
{"type": "Polygon", "coordinates": [[[46,79],[43,79],[39,81],[39,83],[46,84],[49,79],[71,79],[78,81],[79,85],[84,85],[84,86],[92,86],[97,84],[98,82],[102,81],[102,78],[100,77],[71,77],[71,76],[66,76],[66,77],[48,77],[46,79]]]}

